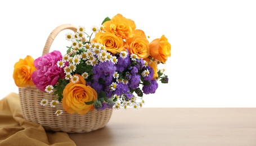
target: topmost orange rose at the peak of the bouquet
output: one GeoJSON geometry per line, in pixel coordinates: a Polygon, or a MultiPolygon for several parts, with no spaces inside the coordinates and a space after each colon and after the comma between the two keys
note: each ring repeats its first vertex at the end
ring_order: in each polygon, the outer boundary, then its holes
{"type": "Polygon", "coordinates": [[[104,22],[103,25],[106,32],[113,33],[122,39],[131,38],[136,28],[133,20],[127,19],[121,14],[114,16],[110,21],[104,22]]]}

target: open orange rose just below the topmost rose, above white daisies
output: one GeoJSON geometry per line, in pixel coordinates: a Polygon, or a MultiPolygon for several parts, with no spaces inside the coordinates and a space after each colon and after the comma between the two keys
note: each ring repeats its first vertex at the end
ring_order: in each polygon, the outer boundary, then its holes
{"type": "Polygon", "coordinates": [[[95,35],[95,42],[105,45],[106,50],[116,54],[124,50],[124,42],[121,38],[111,33],[98,32],[95,35]]]}

